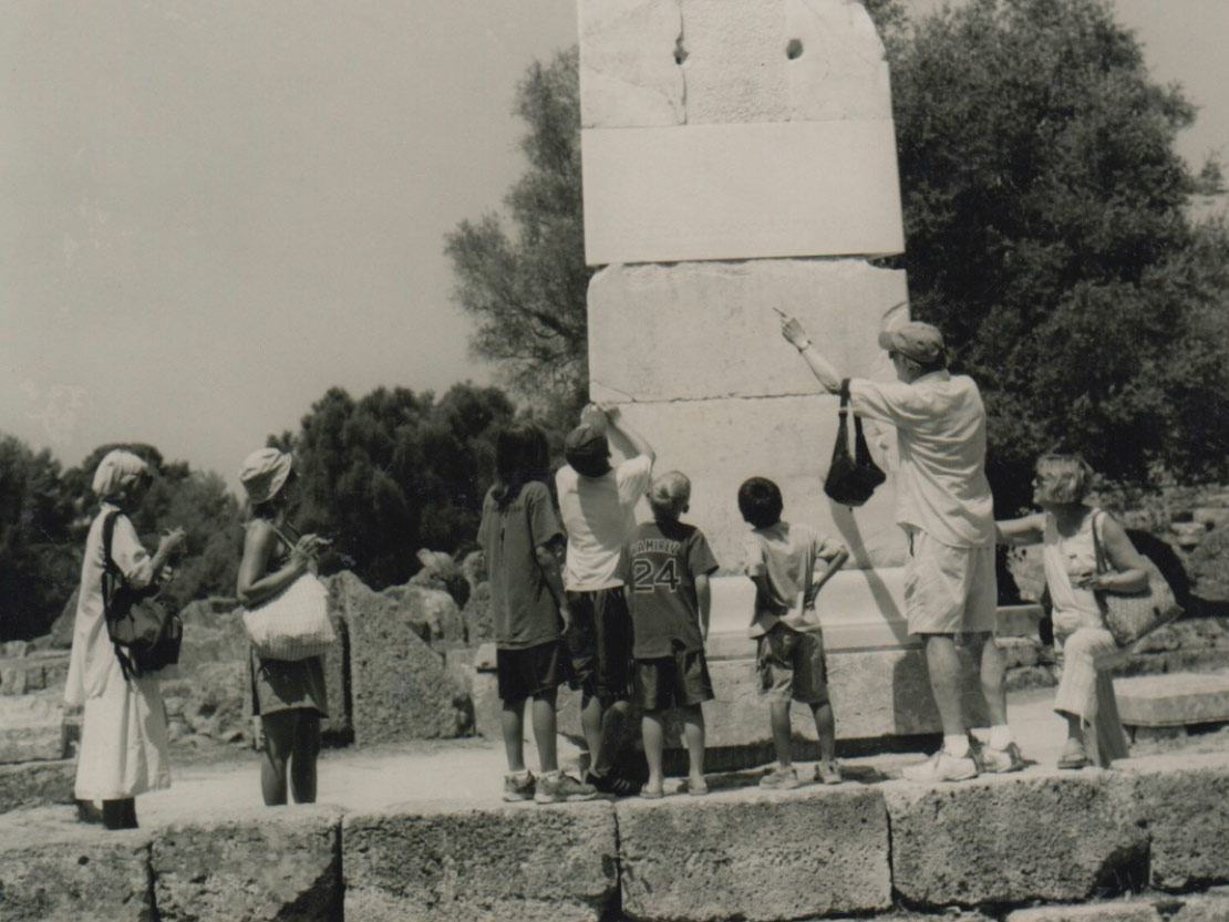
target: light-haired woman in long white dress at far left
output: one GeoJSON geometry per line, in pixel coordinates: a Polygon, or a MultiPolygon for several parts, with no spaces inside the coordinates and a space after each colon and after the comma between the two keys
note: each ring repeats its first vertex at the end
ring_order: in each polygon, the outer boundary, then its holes
{"type": "Polygon", "coordinates": [[[156,583],[167,556],[183,541],[182,529],[168,532],[152,558],[141,546],[128,513],[140,506],[151,482],[145,462],[122,450],[107,454],[93,475],[93,492],[101,508],[85,541],[64,691],[65,703],[85,708],[75,797],[101,800],[107,829],[135,829],[135,797],[171,784],[166,709],[157,674],[124,675],[107,633],[102,600],[102,531],[108,514],[118,513],[111,557],[133,588],[156,583]]]}

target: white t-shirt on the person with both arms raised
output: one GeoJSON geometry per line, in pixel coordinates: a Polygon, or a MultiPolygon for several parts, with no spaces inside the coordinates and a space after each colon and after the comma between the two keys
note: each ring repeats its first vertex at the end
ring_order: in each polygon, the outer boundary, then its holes
{"type": "Polygon", "coordinates": [[[649,489],[653,461],[630,457],[601,477],[581,477],[570,465],[554,476],[559,513],[568,531],[563,585],[594,591],[623,585],[617,575],[623,541],[635,527],[635,504],[649,489]]]}

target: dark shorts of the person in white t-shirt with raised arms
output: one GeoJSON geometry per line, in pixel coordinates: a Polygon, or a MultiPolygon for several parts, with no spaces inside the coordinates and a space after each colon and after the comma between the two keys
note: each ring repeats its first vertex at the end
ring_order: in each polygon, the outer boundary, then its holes
{"type": "Polygon", "coordinates": [[[602,707],[632,697],[632,616],[623,586],[568,593],[573,688],[602,707]]]}

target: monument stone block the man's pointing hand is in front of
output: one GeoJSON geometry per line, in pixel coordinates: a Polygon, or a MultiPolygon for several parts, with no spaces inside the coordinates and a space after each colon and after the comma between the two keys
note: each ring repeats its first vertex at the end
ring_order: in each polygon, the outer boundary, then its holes
{"type": "MultiPolygon", "coordinates": [[[[878,334],[907,299],[903,272],[863,259],[607,266],[589,282],[592,396],[643,403],[820,393],[773,307],[798,317],[844,374],[895,380],[878,334]]],[[[831,447],[815,460],[826,466],[828,457],[831,447]]]]}

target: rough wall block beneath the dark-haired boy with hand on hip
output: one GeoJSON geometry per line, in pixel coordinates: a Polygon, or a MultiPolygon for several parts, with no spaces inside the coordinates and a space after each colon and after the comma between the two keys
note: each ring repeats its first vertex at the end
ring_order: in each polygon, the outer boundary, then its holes
{"type": "Polygon", "coordinates": [[[623,800],[623,911],[634,918],[773,920],[886,908],[887,813],[848,786],[623,800]]]}

